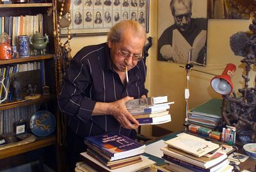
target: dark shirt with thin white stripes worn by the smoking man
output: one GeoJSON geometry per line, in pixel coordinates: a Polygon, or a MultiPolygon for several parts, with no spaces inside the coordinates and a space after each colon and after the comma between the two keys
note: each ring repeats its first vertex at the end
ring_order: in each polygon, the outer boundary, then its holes
{"type": "Polygon", "coordinates": [[[113,70],[107,43],[84,47],[70,61],[63,78],[59,106],[68,116],[68,125],[81,137],[116,132],[135,136],[135,130],[124,129],[113,116],[92,116],[96,102],[115,102],[126,96],[140,98],[145,89],[147,66],[138,61],[129,70],[129,83],[125,86],[113,70]]]}

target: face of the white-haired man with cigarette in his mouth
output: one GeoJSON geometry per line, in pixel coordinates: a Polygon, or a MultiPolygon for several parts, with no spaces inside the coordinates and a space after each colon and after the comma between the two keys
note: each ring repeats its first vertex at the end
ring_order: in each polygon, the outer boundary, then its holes
{"type": "Polygon", "coordinates": [[[134,36],[132,31],[125,31],[121,42],[108,42],[108,47],[111,49],[111,61],[116,72],[125,72],[125,66],[128,70],[137,65],[138,60],[132,60],[133,55],[141,55],[145,38],[134,36]],[[120,56],[118,51],[125,51],[131,54],[128,58],[120,56]]]}

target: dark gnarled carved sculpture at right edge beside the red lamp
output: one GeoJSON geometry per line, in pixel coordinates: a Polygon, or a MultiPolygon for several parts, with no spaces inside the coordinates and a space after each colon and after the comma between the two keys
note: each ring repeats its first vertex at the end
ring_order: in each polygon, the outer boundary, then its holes
{"type": "MultiPolygon", "coordinates": [[[[245,63],[244,87],[236,95],[233,91],[231,95],[223,96],[222,115],[227,125],[236,127],[237,134],[241,131],[250,133],[251,143],[256,143],[256,76],[254,87],[249,88],[249,72],[256,67],[256,19],[253,19],[249,26],[250,32],[239,32],[230,37],[230,47],[235,55],[244,56],[241,60],[245,63]],[[230,112],[227,112],[229,102],[230,112]]],[[[253,72],[253,71],[252,71],[253,72]]]]}

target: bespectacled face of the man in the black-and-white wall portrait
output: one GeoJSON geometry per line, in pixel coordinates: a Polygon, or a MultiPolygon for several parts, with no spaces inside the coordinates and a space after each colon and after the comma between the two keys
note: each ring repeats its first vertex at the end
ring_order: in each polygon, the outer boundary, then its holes
{"type": "Polygon", "coordinates": [[[177,27],[180,28],[181,31],[188,30],[191,24],[191,9],[189,7],[189,2],[186,1],[186,3],[183,4],[179,3],[178,1],[175,1],[174,8],[175,24],[177,25],[177,27]]]}

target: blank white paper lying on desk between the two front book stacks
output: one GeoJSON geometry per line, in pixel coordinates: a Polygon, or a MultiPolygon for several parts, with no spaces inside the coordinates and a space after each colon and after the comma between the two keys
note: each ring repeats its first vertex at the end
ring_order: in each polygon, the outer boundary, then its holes
{"type": "Polygon", "coordinates": [[[155,157],[162,158],[163,151],[161,151],[160,148],[163,148],[165,146],[166,146],[166,144],[164,143],[164,140],[156,141],[156,142],[151,143],[150,145],[146,146],[145,153],[154,155],[155,157]]]}

